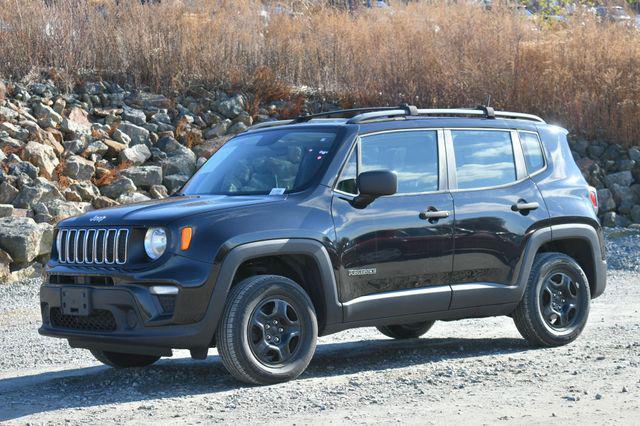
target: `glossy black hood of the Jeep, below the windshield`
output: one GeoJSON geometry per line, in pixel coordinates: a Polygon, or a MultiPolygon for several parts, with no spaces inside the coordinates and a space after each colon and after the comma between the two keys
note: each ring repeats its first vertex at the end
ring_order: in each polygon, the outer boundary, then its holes
{"type": "Polygon", "coordinates": [[[140,203],[126,204],[100,210],[92,210],[80,216],[60,221],[59,226],[133,226],[133,225],[167,225],[177,219],[200,213],[255,204],[273,203],[284,200],[284,197],[228,196],[228,195],[191,195],[169,197],[161,200],[150,200],[140,203]]]}

